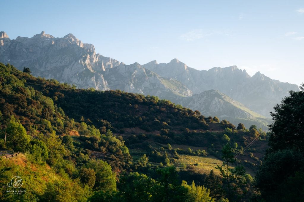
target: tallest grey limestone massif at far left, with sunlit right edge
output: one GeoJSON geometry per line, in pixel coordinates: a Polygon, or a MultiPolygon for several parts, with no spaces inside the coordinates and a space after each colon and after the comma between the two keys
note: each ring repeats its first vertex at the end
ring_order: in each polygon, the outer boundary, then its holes
{"type": "Polygon", "coordinates": [[[81,88],[108,90],[102,72],[120,62],[95,53],[92,44],[82,43],[74,35],[63,38],[41,32],[32,38],[9,39],[0,32],[0,61],[19,69],[29,67],[34,76],[57,79],[81,88]]]}

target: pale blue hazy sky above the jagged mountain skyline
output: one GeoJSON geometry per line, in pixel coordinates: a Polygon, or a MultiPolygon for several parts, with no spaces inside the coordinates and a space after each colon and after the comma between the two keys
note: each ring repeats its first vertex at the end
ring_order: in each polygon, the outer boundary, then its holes
{"type": "Polygon", "coordinates": [[[10,39],[74,34],[126,64],[177,58],[195,69],[237,65],[304,82],[304,1],[2,0],[10,39]]]}

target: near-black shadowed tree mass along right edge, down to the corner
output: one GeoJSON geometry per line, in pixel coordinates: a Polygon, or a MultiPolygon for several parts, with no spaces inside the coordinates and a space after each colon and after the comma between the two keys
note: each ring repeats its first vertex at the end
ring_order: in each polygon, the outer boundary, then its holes
{"type": "Polygon", "coordinates": [[[304,195],[304,84],[299,92],[274,107],[270,148],[257,173],[257,186],[266,200],[299,201],[304,195]]]}

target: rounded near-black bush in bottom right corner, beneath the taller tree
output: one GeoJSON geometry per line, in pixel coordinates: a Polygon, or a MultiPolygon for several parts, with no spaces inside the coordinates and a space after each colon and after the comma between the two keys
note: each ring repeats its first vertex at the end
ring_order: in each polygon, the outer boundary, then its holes
{"type": "Polygon", "coordinates": [[[300,185],[303,168],[304,157],[300,151],[285,149],[268,153],[256,177],[263,198],[274,201],[303,198],[304,187],[300,185]]]}

